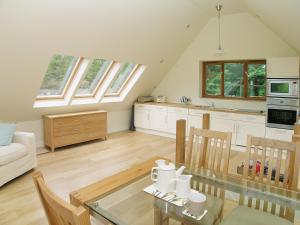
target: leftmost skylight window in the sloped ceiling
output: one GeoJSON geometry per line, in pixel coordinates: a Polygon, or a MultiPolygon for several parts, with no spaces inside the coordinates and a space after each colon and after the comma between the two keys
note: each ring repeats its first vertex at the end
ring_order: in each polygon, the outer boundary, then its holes
{"type": "Polygon", "coordinates": [[[77,61],[78,57],[75,56],[54,55],[38,92],[38,98],[62,96],[77,61]]]}

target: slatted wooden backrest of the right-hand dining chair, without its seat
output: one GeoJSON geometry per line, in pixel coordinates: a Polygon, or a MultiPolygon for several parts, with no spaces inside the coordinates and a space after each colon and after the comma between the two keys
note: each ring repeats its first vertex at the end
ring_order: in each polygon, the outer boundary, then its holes
{"type": "MultiPolygon", "coordinates": [[[[258,183],[296,190],[299,176],[300,143],[248,136],[248,159],[244,162],[243,178],[258,183]]],[[[240,195],[240,205],[284,217],[293,222],[294,210],[253,196],[240,195]]]]}

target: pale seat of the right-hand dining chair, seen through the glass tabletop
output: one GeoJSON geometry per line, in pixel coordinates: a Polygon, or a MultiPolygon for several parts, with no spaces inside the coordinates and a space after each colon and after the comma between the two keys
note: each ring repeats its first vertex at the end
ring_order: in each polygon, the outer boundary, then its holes
{"type": "Polygon", "coordinates": [[[220,225],[292,225],[289,220],[246,206],[236,207],[220,225]]]}

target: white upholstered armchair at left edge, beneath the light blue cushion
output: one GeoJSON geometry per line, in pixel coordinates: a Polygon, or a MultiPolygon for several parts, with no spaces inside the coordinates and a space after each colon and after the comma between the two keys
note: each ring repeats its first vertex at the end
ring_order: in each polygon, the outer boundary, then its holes
{"type": "Polygon", "coordinates": [[[15,132],[10,145],[0,146],[0,187],[36,165],[34,134],[15,132]]]}

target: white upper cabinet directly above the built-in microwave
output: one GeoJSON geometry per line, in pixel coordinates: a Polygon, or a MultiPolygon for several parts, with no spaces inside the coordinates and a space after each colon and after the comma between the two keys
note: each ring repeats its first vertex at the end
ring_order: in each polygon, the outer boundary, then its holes
{"type": "Polygon", "coordinates": [[[299,57],[268,58],[267,77],[299,78],[299,57]]]}

